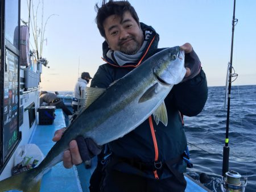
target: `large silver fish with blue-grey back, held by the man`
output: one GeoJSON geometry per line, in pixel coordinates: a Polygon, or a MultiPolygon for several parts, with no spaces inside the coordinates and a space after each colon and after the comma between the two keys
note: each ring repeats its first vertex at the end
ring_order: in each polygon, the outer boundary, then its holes
{"type": "Polygon", "coordinates": [[[46,158],[38,167],[0,181],[0,191],[40,191],[44,173],[62,161],[69,142],[79,135],[90,137],[98,145],[109,143],[134,130],[152,114],[156,123],[167,125],[164,98],[183,80],[185,71],[184,51],[172,47],[148,58],[106,90],[88,87],[85,110],[53,145],[46,158]],[[98,95],[97,99],[93,95],[98,95]]]}

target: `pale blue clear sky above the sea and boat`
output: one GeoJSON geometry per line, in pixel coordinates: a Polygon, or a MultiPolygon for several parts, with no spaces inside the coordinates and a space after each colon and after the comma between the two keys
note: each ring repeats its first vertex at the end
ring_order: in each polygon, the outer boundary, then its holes
{"type": "MultiPolygon", "coordinates": [[[[21,0],[21,18],[28,20],[27,0],[21,0]]],[[[34,6],[39,0],[34,0],[34,6]]],[[[232,0],[130,0],[140,22],[160,35],[159,48],[191,43],[207,75],[208,86],[225,86],[232,40],[232,0]]],[[[45,28],[40,87],[47,91],[72,91],[82,72],[94,76],[104,64],[102,42],[95,23],[93,0],[44,0],[45,28]]],[[[42,0],[38,26],[41,25],[42,0]]],[[[234,28],[232,85],[256,85],[256,1],[237,0],[234,28]]]]}

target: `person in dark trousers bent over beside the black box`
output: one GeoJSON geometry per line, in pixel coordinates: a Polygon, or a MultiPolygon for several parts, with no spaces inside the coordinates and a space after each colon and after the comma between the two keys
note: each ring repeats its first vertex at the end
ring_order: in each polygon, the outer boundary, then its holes
{"type": "Polygon", "coordinates": [[[65,106],[63,101],[59,97],[57,97],[54,93],[48,93],[47,91],[40,91],[40,105],[42,105],[43,102],[46,102],[50,106],[56,106],[56,108],[61,108],[64,112],[64,114],[72,115],[72,112],[69,111],[69,109],[65,106]]]}

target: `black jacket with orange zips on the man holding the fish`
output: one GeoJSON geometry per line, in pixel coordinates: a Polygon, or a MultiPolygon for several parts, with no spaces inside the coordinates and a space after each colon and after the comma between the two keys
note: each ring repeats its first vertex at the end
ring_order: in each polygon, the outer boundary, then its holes
{"type": "MultiPolygon", "coordinates": [[[[143,31],[152,31],[150,40],[148,40],[147,46],[142,54],[144,55],[143,62],[162,49],[158,49],[159,35],[156,34],[155,30],[143,23],[141,23],[141,27],[143,31]],[[147,51],[148,47],[149,49],[147,51]]],[[[106,57],[106,52],[108,52],[109,49],[106,42],[103,43],[102,48],[104,60],[108,63],[103,64],[98,68],[91,86],[107,88],[112,82],[122,78],[133,70],[137,63],[129,63],[119,66],[118,64],[115,64],[115,61],[106,57]]],[[[186,57],[185,55],[185,62],[188,61],[189,56],[186,57]]],[[[203,70],[192,79],[175,85],[164,100],[168,114],[167,127],[162,123],[156,125],[153,120],[154,134],[152,135],[149,120],[144,121],[134,131],[109,143],[109,147],[114,156],[146,163],[155,161],[156,151],[158,151],[158,160],[162,162],[180,156],[187,147],[187,139],[184,133],[181,114],[187,116],[195,116],[199,114],[207,101],[207,94],[207,80],[203,70]],[[156,140],[157,147],[154,144],[154,139],[156,140]]],[[[129,116],[125,118],[129,118],[129,116]]],[[[181,161],[174,166],[180,173],[183,173],[185,171],[185,165],[186,164],[181,161]]],[[[141,174],[145,177],[155,178],[151,171],[145,172],[137,170],[125,163],[120,163],[114,166],[114,168],[121,170],[122,172],[141,174]]],[[[167,178],[170,176],[170,170],[166,169],[161,172],[159,178],[167,178]]]]}

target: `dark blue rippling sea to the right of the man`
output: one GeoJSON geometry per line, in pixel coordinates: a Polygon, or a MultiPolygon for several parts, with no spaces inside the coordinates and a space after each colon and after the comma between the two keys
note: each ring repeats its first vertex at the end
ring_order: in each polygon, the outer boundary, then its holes
{"type": "MultiPolygon", "coordinates": [[[[195,117],[184,118],[193,163],[187,172],[197,180],[200,173],[217,178],[222,174],[227,112],[224,101],[224,86],[209,87],[203,111],[195,117]]],[[[229,148],[229,170],[248,178],[246,191],[256,191],[256,85],[232,86],[229,148]]],[[[213,189],[212,182],[205,186],[213,189]]]]}

